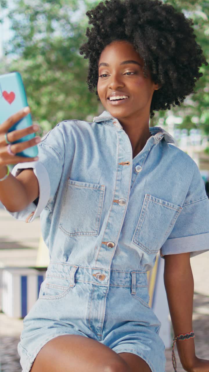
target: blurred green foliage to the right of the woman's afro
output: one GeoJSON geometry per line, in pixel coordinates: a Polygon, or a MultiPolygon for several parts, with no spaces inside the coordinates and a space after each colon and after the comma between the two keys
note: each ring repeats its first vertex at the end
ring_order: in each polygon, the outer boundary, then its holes
{"type": "MultiPolygon", "coordinates": [[[[209,2],[201,0],[165,0],[164,3],[171,4],[175,9],[183,11],[184,14],[193,19],[194,33],[196,42],[201,45],[203,54],[209,62],[209,2]]],[[[209,134],[209,66],[200,67],[203,76],[197,81],[195,93],[184,100],[180,107],[172,108],[170,111],[161,111],[155,114],[154,125],[157,125],[159,118],[166,120],[168,115],[180,117],[181,124],[177,124],[179,129],[202,129],[205,134],[209,134]]]]}

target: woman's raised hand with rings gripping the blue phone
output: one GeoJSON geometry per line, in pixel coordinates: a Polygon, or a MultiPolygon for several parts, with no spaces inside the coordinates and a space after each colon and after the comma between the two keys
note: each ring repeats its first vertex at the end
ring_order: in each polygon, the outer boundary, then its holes
{"type": "Polygon", "coordinates": [[[3,124],[0,125],[0,169],[8,164],[17,164],[17,163],[24,163],[29,161],[38,160],[37,157],[23,157],[23,156],[16,156],[16,153],[20,153],[21,151],[25,150],[26,148],[32,147],[37,145],[40,141],[40,137],[34,137],[32,140],[19,142],[16,144],[11,144],[10,151],[8,152],[8,144],[6,143],[5,134],[7,134],[7,140],[9,142],[15,142],[22,137],[25,137],[28,134],[35,133],[38,131],[38,125],[32,125],[25,129],[19,129],[12,132],[9,132],[9,129],[22,118],[24,118],[30,112],[29,107],[25,107],[24,109],[18,111],[14,115],[10,116],[3,124]]]}

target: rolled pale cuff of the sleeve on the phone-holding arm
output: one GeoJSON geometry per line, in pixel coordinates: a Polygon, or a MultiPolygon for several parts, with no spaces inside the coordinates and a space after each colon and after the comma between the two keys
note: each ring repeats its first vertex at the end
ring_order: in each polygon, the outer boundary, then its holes
{"type": "Polygon", "coordinates": [[[32,222],[34,218],[38,217],[41,214],[42,210],[45,208],[46,204],[49,201],[50,181],[46,168],[39,161],[17,164],[12,170],[12,175],[16,177],[21,172],[21,170],[28,168],[33,168],[33,172],[36,178],[38,179],[39,184],[38,205],[36,206],[35,203],[32,202],[20,212],[10,212],[5,207],[4,208],[14,218],[19,219],[20,221],[25,220],[25,222],[32,222]]]}

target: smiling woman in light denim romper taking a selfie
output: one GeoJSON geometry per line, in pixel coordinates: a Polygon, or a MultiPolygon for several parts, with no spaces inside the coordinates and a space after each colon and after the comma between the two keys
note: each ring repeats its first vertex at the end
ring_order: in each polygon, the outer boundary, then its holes
{"type": "Polygon", "coordinates": [[[6,141],[37,130],[5,135],[27,109],[0,128],[1,201],[18,219],[41,216],[50,257],[24,319],[23,372],[164,372],[147,287],[159,250],[183,368],[208,372],[194,350],[190,267],[191,256],[208,250],[208,198],[192,158],[149,127],[153,110],[193,92],[207,62],[192,21],[161,1],[110,0],[87,15],[93,28],[80,52],[105,111],[93,122],[55,126],[38,145],[38,161],[13,155],[38,138],[7,151],[6,141]],[[10,163],[19,163],[13,175],[10,163]]]}

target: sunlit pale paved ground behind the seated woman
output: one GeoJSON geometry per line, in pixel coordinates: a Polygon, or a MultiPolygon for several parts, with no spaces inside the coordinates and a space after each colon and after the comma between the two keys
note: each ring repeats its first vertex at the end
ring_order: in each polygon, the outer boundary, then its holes
{"type": "MultiPolygon", "coordinates": [[[[34,266],[40,238],[40,222],[32,224],[16,221],[0,209],[0,267],[34,266]]],[[[193,329],[195,332],[196,355],[209,359],[209,252],[191,259],[194,276],[193,329]]],[[[9,318],[0,313],[0,372],[21,372],[17,343],[23,321],[9,318]]],[[[165,372],[173,372],[171,349],[165,352],[165,372]]],[[[177,352],[177,372],[182,372],[177,352]]]]}

